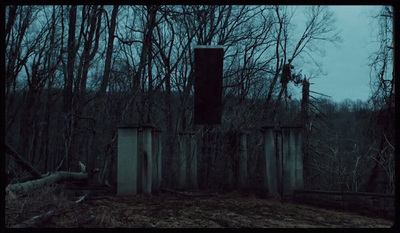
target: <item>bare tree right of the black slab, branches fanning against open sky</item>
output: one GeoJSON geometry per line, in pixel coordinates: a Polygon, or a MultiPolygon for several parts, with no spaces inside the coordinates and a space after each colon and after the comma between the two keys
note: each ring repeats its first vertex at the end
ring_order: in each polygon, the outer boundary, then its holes
{"type": "MultiPolygon", "coordinates": [[[[320,69],[320,63],[315,59],[315,55],[323,55],[324,50],[319,46],[321,42],[339,43],[341,38],[335,27],[335,17],[332,11],[327,6],[310,6],[305,7],[304,16],[306,17],[305,25],[302,27],[300,37],[297,37],[293,28],[293,15],[295,11],[291,11],[292,7],[276,6],[275,15],[275,33],[276,33],[276,48],[275,48],[275,73],[272,83],[269,87],[266,105],[268,106],[273,90],[278,80],[279,74],[282,71],[283,65],[287,60],[300,60],[299,64],[311,60],[314,65],[320,69]],[[308,59],[306,59],[308,57],[308,59]],[[300,58],[300,59],[297,59],[300,58]]],[[[310,77],[309,77],[310,78],[310,77]]],[[[283,89],[279,92],[277,105],[280,102],[283,89]]]]}

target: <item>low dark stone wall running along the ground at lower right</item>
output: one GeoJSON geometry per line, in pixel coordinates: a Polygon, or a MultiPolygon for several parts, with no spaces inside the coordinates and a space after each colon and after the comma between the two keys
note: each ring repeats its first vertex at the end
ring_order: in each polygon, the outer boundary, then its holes
{"type": "Polygon", "coordinates": [[[394,195],[295,190],[293,201],[394,220],[394,195]]]}

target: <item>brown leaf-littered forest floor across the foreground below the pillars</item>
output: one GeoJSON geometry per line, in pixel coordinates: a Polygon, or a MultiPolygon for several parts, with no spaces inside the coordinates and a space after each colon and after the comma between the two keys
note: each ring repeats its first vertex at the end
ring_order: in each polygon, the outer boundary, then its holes
{"type": "Polygon", "coordinates": [[[132,197],[54,194],[54,189],[7,198],[5,225],[12,227],[53,210],[39,227],[55,228],[388,228],[392,221],[318,207],[281,203],[237,192],[184,196],[163,192],[132,197]]]}

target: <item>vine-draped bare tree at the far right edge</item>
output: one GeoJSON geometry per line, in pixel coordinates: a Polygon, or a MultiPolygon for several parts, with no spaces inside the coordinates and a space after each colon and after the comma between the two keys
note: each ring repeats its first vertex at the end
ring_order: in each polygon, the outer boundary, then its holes
{"type": "Polygon", "coordinates": [[[380,179],[379,170],[386,171],[384,180],[390,181],[385,188],[389,192],[394,191],[394,131],[395,128],[395,75],[393,65],[393,8],[383,6],[374,18],[377,22],[377,38],[380,43],[378,51],[371,55],[371,83],[372,97],[370,101],[376,110],[372,127],[377,131],[376,140],[379,141],[378,150],[372,158],[375,161],[368,180],[368,191],[377,189],[380,179]],[[389,162],[389,163],[388,163],[389,162]]]}

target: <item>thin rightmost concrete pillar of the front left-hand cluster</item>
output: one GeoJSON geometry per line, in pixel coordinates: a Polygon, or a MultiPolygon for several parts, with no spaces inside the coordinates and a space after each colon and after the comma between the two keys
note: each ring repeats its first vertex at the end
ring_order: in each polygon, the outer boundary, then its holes
{"type": "Polygon", "coordinates": [[[161,147],[161,130],[156,128],[153,130],[153,181],[152,191],[158,192],[161,187],[162,177],[162,147],[161,147]]]}

